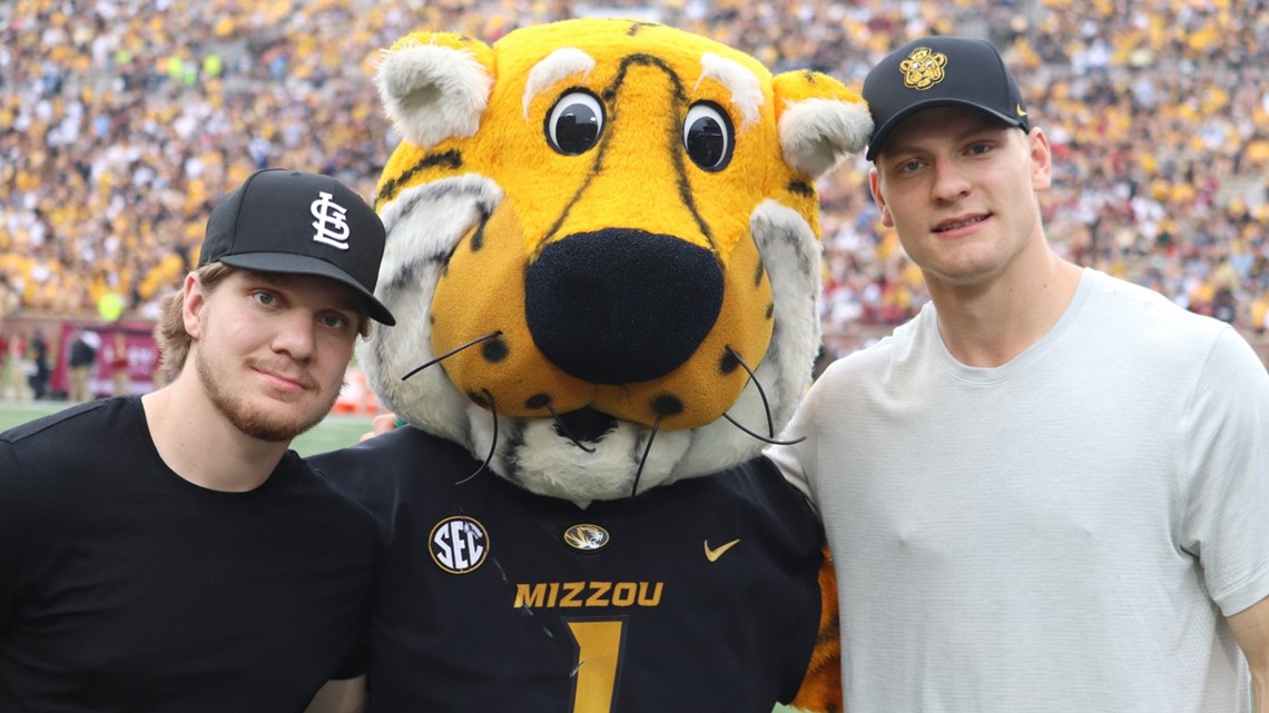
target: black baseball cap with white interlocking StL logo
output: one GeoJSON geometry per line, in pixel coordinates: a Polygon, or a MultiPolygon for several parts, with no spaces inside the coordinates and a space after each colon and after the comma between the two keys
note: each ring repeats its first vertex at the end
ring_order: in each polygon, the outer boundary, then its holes
{"type": "Polygon", "coordinates": [[[207,219],[198,266],[225,263],[263,273],[330,278],[365,298],[369,316],[395,325],[374,298],[383,222],[343,183],[286,169],[251,174],[207,219]]]}

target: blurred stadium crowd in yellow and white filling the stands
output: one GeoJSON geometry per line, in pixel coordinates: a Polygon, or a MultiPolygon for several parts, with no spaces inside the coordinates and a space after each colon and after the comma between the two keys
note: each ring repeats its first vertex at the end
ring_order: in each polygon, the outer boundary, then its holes
{"type": "MultiPolygon", "coordinates": [[[[373,195],[396,142],[372,84],[415,28],[487,42],[621,11],[712,36],[775,71],[859,86],[926,34],[991,39],[1049,134],[1049,236],[1075,261],[1263,335],[1269,318],[1269,0],[16,0],[0,5],[0,317],[150,317],[197,256],[214,197],[256,167],[373,195]]],[[[821,184],[826,330],[926,299],[863,159],[821,184]]]]}

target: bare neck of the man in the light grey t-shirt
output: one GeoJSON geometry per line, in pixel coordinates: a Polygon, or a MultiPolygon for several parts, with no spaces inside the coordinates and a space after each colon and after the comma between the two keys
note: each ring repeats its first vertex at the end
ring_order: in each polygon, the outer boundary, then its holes
{"type": "Polygon", "coordinates": [[[1081,268],[1058,258],[1047,244],[1019,255],[989,283],[971,287],[931,284],[939,332],[948,351],[970,367],[1000,367],[1033,344],[1062,317],[1080,284],[1081,268]]]}

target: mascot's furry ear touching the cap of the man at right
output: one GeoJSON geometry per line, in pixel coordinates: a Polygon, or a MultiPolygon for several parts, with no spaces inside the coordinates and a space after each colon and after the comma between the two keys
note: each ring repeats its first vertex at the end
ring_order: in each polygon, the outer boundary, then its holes
{"type": "Polygon", "coordinates": [[[775,75],[772,88],[780,148],[794,169],[817,179],[868,143],[868,105],[840,81],[802,70],[775,75]]]}

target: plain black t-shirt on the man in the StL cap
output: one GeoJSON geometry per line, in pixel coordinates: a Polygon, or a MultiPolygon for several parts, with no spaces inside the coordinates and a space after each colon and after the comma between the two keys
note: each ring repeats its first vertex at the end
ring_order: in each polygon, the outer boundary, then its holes
{"type": "Polygon", "coordinates": [[[136,397],[0,434],[0,710],[283,713],[364,672],[378,544],[293,452],[171,472],[136,397]]]}

